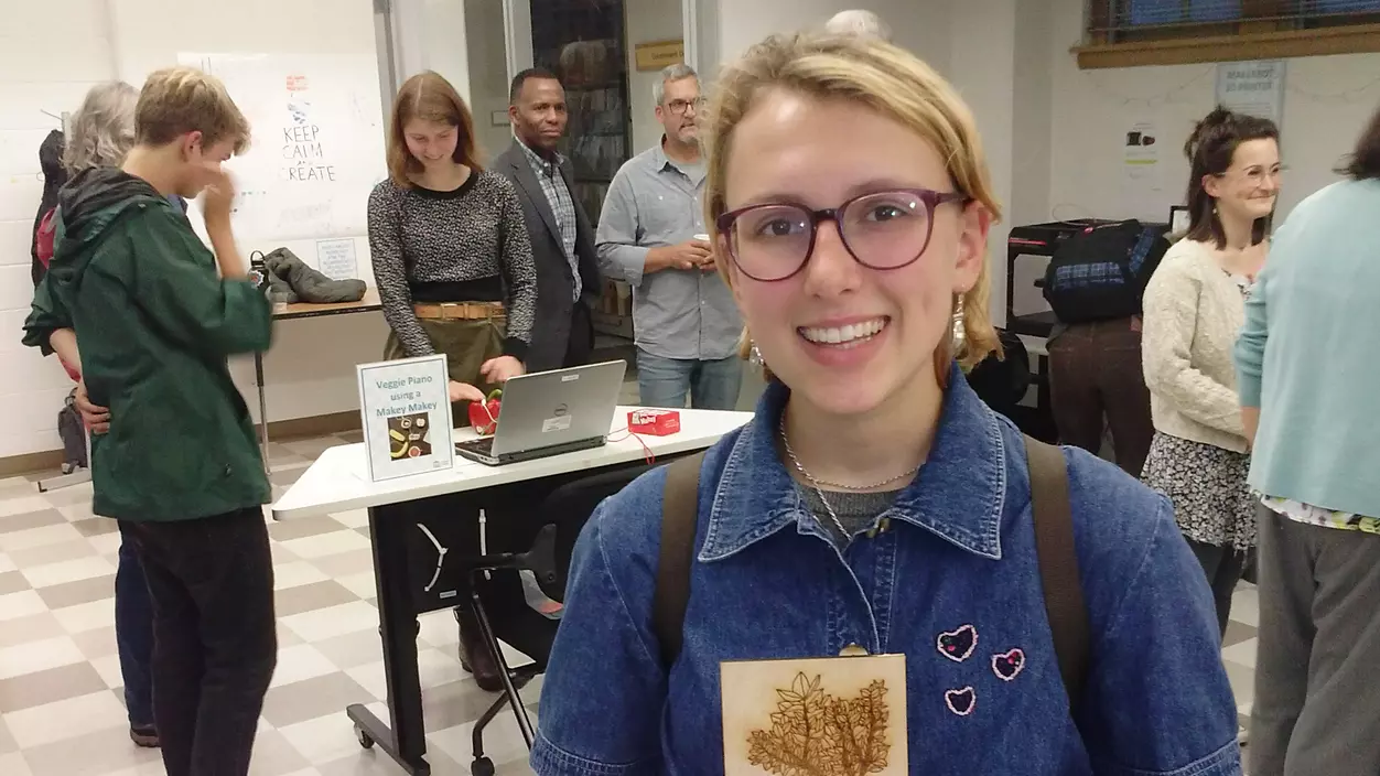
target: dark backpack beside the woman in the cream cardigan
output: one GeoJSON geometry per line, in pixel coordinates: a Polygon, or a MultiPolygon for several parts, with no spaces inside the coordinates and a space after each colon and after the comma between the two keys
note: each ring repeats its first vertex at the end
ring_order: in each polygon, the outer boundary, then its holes
{"type": "Polygon", "coordinates": [[[1163,225],[1121,221],[1068,237],[1045,269],[1045,300],[1061,323],[1132,318],[1159,260],[1169,250],[1163,225]]]}

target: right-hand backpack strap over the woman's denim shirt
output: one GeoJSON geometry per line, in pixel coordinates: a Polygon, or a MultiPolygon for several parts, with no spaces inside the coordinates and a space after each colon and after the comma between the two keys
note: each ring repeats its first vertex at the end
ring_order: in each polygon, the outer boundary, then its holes
{"type": "Polygon", "coordinates": [[[1074,515],[1068,503],[1068,464],[1058,447],[1025,438],[1025,458],[1031,478],[1031,511],[1035,516],[1035,554],[1045,614],[1054,634],[1054,654],[1064,678],[1068,706],[1078,711],[1087,679],[1092,635],[1087,606],[1078,577],[1074,548],[1074,515]]]}

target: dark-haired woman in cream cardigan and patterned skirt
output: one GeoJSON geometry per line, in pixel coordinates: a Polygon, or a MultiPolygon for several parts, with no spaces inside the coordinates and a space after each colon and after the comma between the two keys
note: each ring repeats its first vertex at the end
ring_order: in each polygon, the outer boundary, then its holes
{"type": "Polygon", "coordinates": [[[1227,632],[1231,596],[1256,544],[1246,486],[1249,443],[1232,348],[1265,260],[1279,192],[1279,131],[1217,108],[1184,146],[1191,162],[1188,233],[1145,289],[1143,360],[1155,439],[1143,478],[1174,504],[1227,632]]]}

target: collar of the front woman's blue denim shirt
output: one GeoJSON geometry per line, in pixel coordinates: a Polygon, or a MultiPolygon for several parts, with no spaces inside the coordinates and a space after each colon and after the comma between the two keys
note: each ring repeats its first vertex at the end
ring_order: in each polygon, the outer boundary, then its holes
{"type": "MultiPolygon", "coordinates": [[[[758,402],[756,416],[733,442],[713,494],[701,562],[729,558],[792,523],[802,534],[827,536],[777,454],[777,427],[789,395],[789,388],[773,381],[758,402]]],[[[929,458],[882,516],[929,530],[974,555],[1000,559],[1005,498],[1000,421],[955,365],[929,458]]]]}

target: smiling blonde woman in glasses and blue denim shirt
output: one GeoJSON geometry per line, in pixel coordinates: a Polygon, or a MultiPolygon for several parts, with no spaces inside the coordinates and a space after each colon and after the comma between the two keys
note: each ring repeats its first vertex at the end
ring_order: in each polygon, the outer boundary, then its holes
{"type": "Polygon", "coordinates": [[[704,458],[675,659],[653,625],[665,469],[591,519],[535,770],[723,773],[857,754],[854,733],[838,751],[821,743],[827,710],[856,703],[828,693],[854,689],[827,679],[825,693],[803,674],[748,699],[773,710],[760,730],[724,730],[748,690],[720,664],[847,654],[827,674],[860,677],[882,663],[851,656],[891,654],[904,689],[889,718],[907,725],[867,746],[912,773],[1239,773],[1210,596],[1169,504],[1079,450],[1063,460],[1093,660],[1083,690],[1065,690],[1024,440],[959,369],[996,347],[999,210],[954,88],[879,40],[799,36],[751,48],[713,94],[707,220],[745,347],[773,378],[753,420],[704,458]]]}

